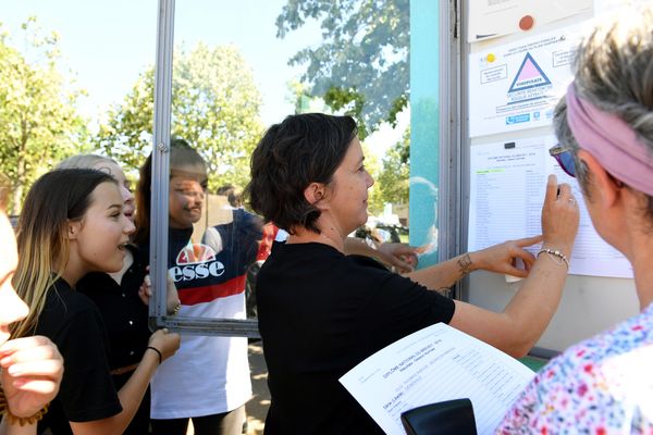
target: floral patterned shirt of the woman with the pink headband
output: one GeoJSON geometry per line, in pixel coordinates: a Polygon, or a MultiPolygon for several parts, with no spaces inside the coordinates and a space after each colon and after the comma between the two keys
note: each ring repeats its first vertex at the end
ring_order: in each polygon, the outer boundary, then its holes
{"type": "Polygon", "coordinates": [[[653,303],[544,366],[498,434],[653,434],[653,303]]]}

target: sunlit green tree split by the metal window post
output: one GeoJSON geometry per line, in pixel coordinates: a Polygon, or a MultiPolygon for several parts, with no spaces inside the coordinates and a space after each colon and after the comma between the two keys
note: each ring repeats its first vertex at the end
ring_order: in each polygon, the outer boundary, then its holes
{"type": "MultiPolygon", "coordinates": [[[[209,164],[209,188],[244,186],[249,156],[263,125],[261,97],[237,48],[198,44],[174,54],[172,132],[188,140],[209,164]]],[[[96,141],[127,170],[136,170],[151,149],[153,69],[143,73],[121,104],[114,105],[96,141]]]]}

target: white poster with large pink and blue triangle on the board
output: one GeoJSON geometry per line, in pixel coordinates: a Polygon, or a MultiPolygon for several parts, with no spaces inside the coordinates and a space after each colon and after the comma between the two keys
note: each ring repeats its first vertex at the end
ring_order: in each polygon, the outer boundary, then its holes
{"type": "Polygon", "coordinates": [[[549,125],[579,35],[563,28],[469,55],[469,135],[549,125]]]}

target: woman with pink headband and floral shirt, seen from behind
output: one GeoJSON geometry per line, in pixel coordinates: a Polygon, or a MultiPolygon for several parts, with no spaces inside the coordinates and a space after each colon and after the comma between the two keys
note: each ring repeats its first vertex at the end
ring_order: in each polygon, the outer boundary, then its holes
{"type": "Polygon", "coordinates": [[[552,360],[498,433],[653,433],[653,9],[584,39],[551,150],[596,232],[628,258],[641,312],[552,360]]]}

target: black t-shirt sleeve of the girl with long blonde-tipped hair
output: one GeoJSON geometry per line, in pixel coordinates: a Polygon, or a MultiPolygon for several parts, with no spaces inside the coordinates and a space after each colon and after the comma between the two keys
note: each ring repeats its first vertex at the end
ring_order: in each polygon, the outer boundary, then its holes
{"type": "Polygon", "coordinates": [[[100,420],[122,411],[109,372],[100,321],[93,310],[82,310],[54,339],[64,360],[58,398],[70,421],[100,420]]]}

